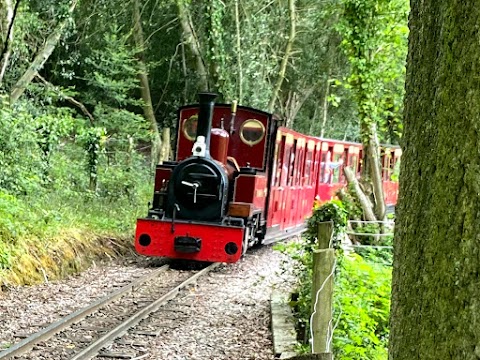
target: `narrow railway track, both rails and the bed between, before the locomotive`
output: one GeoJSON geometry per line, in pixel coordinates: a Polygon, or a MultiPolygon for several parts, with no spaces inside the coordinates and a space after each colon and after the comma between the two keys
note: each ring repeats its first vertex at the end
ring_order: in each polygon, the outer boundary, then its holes
{"type": "Polygon", "coordinates": [[[165,265],[0,352],[0,359],[141,359],[146,343],[138,336],[158,335],[149,316],[217,265],[197,272],[165,265]]]}

